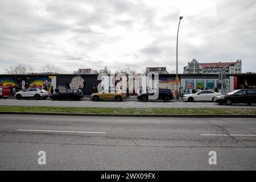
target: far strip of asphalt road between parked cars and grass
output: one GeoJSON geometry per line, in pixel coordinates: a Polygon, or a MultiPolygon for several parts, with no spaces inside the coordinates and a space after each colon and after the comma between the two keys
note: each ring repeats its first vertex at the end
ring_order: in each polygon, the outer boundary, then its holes
{"type": "Polygon", "coordinates": [[[213,102],[184,102],[184,101],[171,101],[171,102],[163,102],[163,101],[148,101],[142,102],[137,100],[132,101],[100,101],[94,102],[90,100],[81,100],[81,101],[52,101],[52,100],[34,100],[34,99],[2,99],[0,100],[0,106],[73,106],[73,107],[242,107],[242,108],[256,108],[256,105],[247,105],[247,104],[236,104],[236,105],[218,105],[213,102]]]}

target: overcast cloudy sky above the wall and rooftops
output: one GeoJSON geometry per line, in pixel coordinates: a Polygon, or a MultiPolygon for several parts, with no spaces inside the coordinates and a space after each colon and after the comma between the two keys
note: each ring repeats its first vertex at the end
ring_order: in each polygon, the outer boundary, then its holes
{"type": "Polygon", "coordinates": [[[19,63],[175,71],[179,16],[179,73],[192,59],[241,59],[256,72],[255,0],[2,0],[0,73],[19,63]]]}

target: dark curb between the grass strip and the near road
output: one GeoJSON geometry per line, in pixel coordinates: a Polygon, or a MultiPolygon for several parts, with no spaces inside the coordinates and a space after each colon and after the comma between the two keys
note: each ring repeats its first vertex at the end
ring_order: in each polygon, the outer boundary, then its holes
{"type": "Polygon", "coordinates": [[[161,118],[256,118],[248,114],[85,114],[85,113],[31,113],[0,111],[0,114],[28,114],[28,115],[77,115],[77,116],[104,116],[104,117],[161,117],[161,118]]]}

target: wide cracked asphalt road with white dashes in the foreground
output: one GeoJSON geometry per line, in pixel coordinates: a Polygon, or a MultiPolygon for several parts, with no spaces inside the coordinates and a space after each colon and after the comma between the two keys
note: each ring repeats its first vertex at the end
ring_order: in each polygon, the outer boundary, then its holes
{"type": "Polygon", "coordinates": [[[0,117],[0,170],[256,169],[255,118],[0,117]]]}

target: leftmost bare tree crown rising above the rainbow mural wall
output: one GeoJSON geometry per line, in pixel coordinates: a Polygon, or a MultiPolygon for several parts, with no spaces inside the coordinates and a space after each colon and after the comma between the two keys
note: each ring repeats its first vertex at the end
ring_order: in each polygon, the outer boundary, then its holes
{"type": "Polygon", "coordinates": [[[5,73],[11,75],[24,75],[34,72],[35,69],[30,64],[18,64],[5,68],[5,73]]]}

